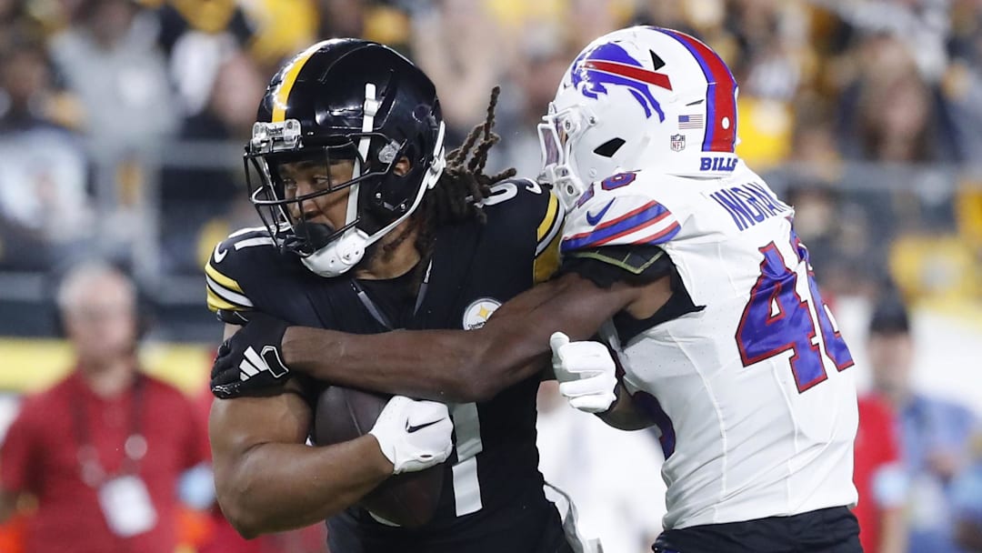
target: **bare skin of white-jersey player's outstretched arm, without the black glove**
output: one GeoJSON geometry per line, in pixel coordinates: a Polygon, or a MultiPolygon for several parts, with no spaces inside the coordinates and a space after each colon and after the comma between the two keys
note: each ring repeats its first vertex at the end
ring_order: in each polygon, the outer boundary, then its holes
{"type": "Polygon", "coordinates": [[[336,384],[442,401],[484,401],[547,366],[553,332],[587,339],[643,294],[643,287],[617,283],[601,288],[571,273],[520,294],[480,329],[349,335],[290,327],[283,354],[288,366],[336,384]]]}

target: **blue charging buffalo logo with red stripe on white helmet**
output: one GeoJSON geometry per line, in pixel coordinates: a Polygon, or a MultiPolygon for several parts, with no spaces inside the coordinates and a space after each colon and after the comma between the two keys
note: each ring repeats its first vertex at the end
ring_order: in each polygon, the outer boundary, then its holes
{"type": "Polygon", "coordinates": [[[651,86],[671,90],[669,76],[646,69],[614,42],[600,44],[580,54],[573,61],[571,75],[573,86],[592,99],[607,94],[608,85],[625,86],[644,108],[645,118],[650,119],[654,111],[658,113],[659,120],[665,121],[665,112],[651,93],[651,86]]]}

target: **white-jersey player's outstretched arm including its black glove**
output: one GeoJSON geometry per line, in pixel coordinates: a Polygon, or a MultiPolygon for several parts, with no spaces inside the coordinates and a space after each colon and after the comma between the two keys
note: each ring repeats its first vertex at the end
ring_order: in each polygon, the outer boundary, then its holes
{"type": "Polygon", "coordinates": [[[647,318],[671,296],[668,276],[645,285],[617,282],[603,288],[568,273],[518,295],[476,330],[355,335],[288,328],[282,321],[254,314],[219,350],[211,390],[220,398],[236,397],[278,385],[294,370],[333,384],[390,394],[485,401],[548,366],[553,332],[587,339],[618,311],[647,318]],[[241,366],[250,351],[253,357],[265,352],[264,359],[278,368],[259,371],[261,378],[246,374],[241,366]],[[273,373],[278,375],[275,379],[269,376],[273,373]]]}

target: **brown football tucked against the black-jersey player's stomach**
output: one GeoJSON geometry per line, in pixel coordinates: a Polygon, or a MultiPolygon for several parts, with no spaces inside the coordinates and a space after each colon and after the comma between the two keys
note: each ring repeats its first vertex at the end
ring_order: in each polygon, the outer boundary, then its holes
{"type": "MultiPolygon", "coordinates": [[[[391,396],[328,386],[317,398],[313,420],[316,445],[331,445],[367,434],[391,396]]],[[[443,465],[395,474],[363,497],[359,505],[376,517],[417,527],[433,518],[443,490],[443,465]]]]}

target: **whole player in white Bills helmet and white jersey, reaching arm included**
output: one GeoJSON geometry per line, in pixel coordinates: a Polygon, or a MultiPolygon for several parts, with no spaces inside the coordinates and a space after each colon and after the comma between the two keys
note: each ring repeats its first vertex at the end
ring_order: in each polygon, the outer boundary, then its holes
{"type": "Polygon", "coordinates": [[[257,318],[216,359],[213,389],[277,384],[241,379],[250,346],[292,372],[453,402],[552,355],[573,407],[660,432],[655,551],[861,551],[852,359],[793,209],[736,156],[736,129],[736,82],[705,44],[665,28],[602,36],[539,127],[542,180],[569,211],[559,277],[466,332],[284,334],[257,318]]]}

